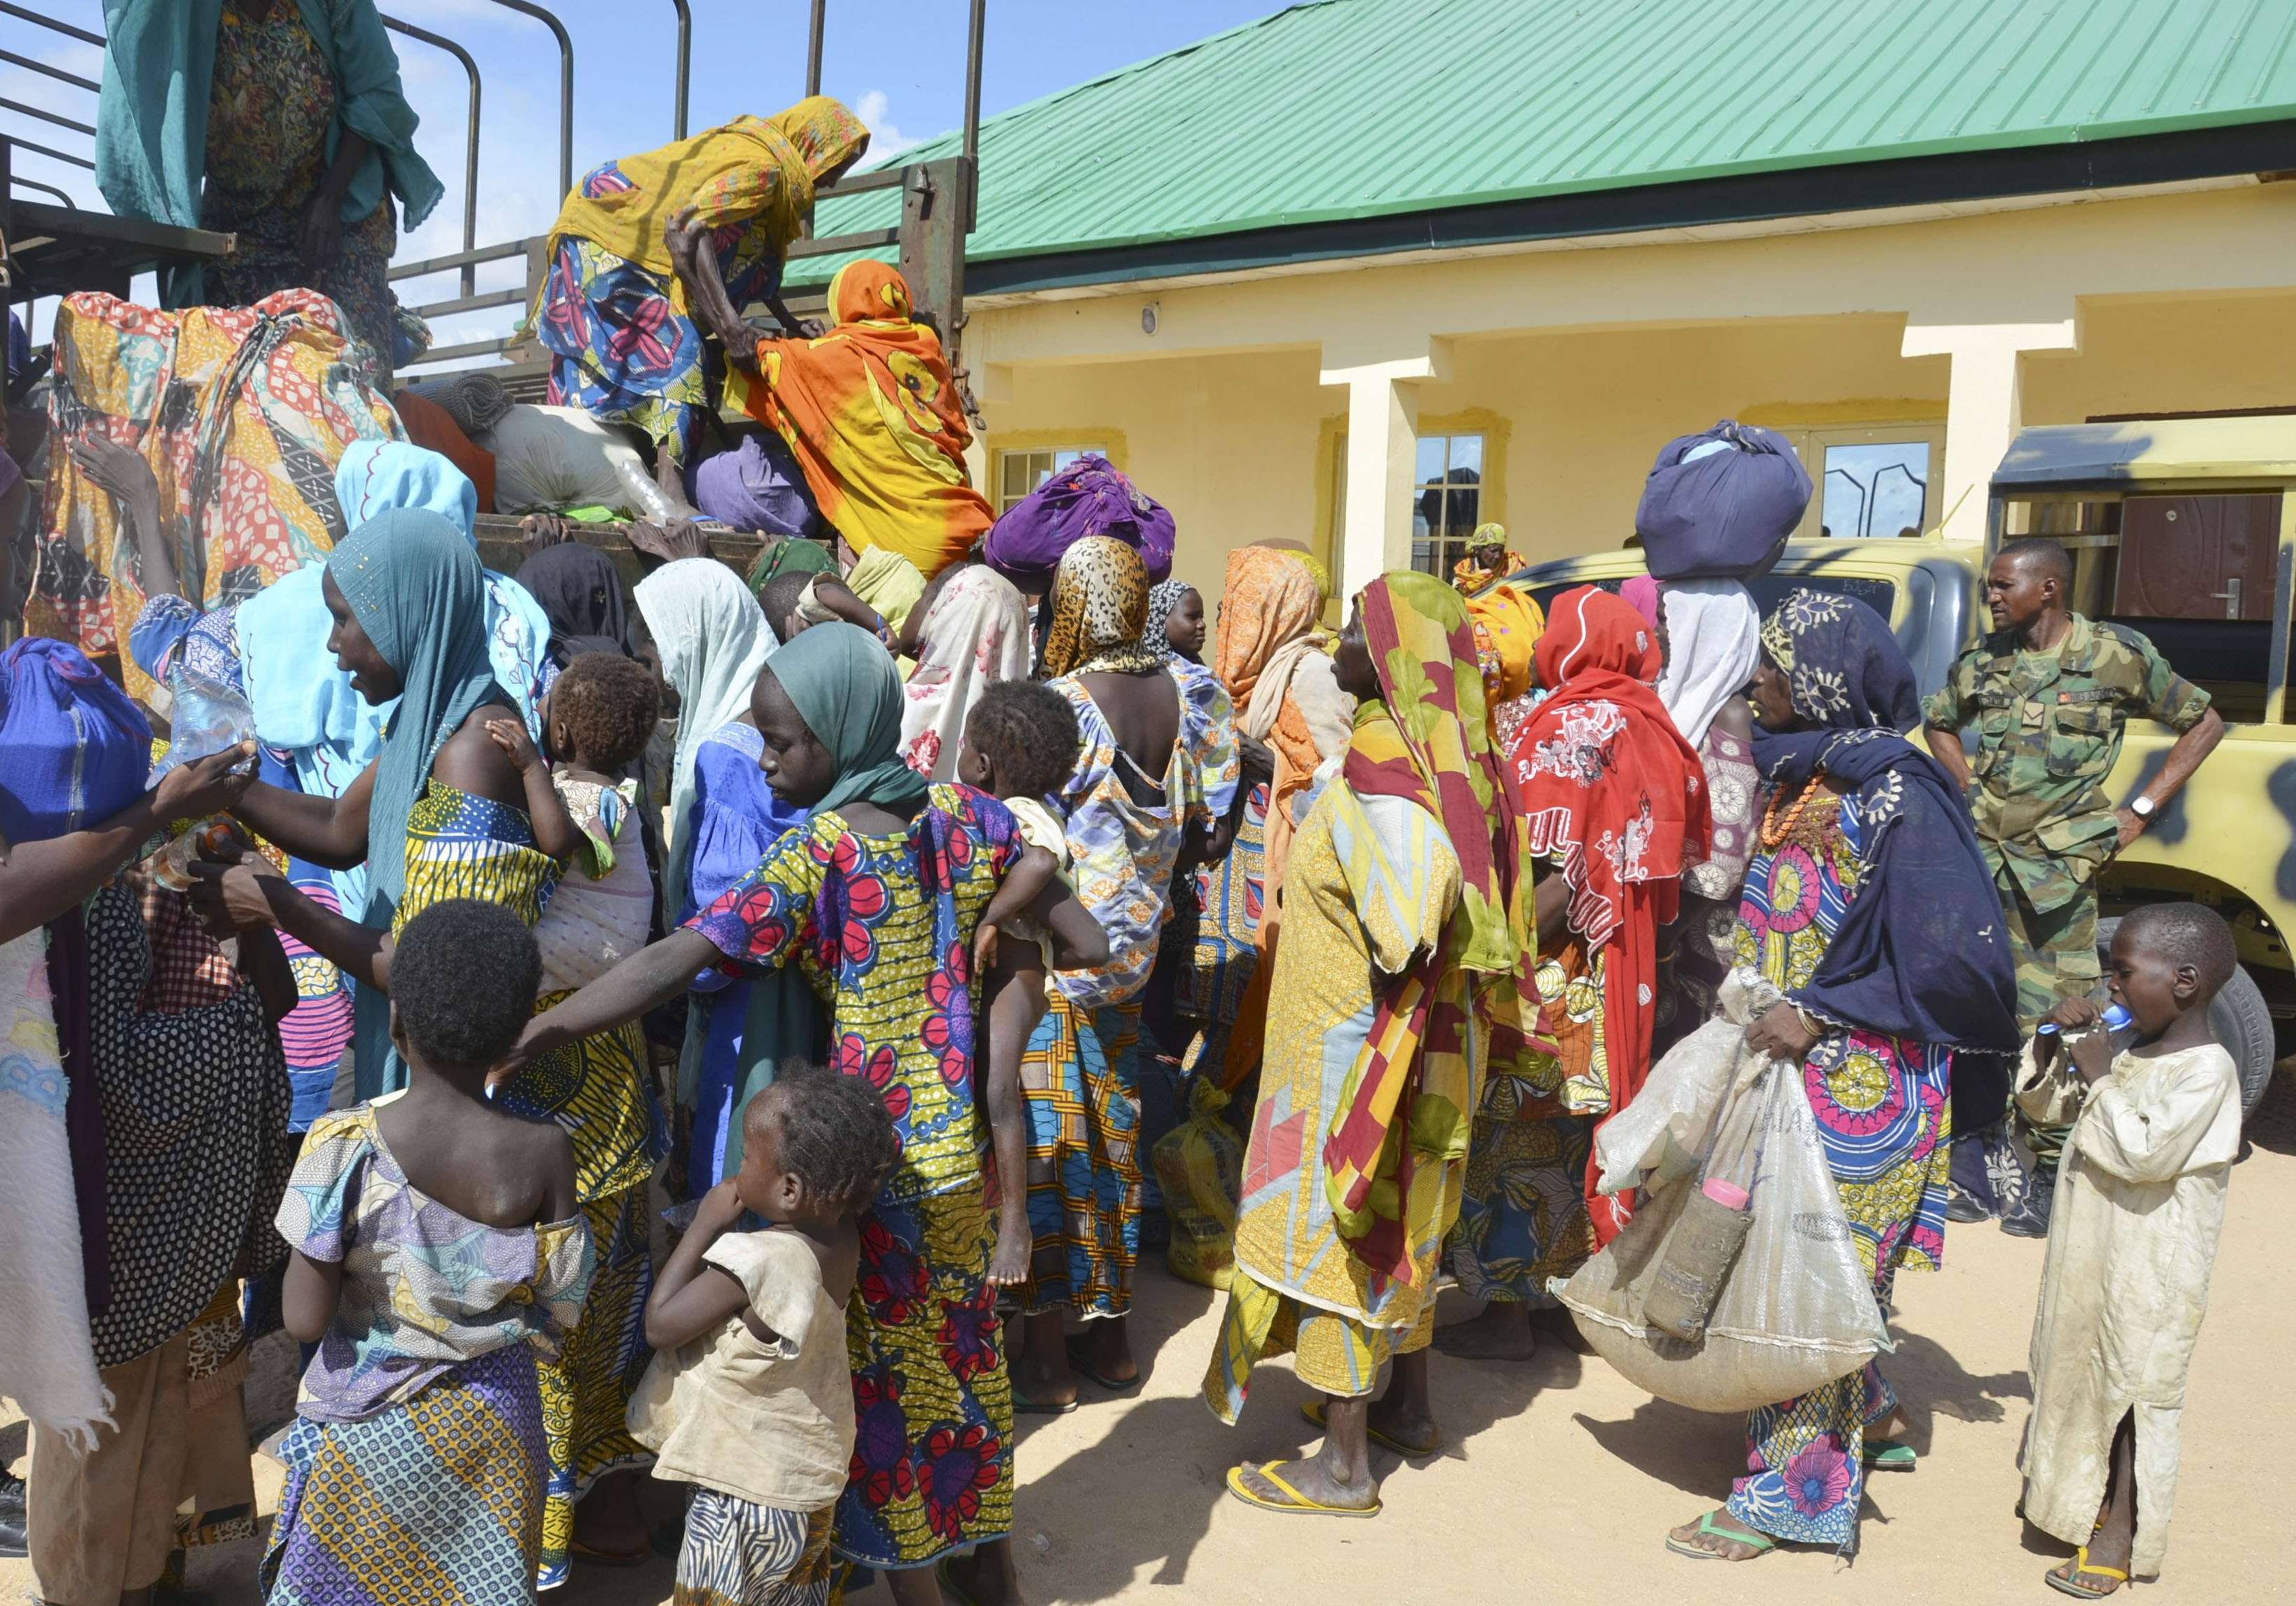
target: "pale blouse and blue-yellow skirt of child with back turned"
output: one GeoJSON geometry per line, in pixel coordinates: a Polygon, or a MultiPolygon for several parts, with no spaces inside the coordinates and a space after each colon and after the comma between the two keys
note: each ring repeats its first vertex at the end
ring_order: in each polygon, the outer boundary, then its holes
{"type": "Polygon", "coordinates": [[[342,1269],[342,1303],[280,1445],[264,1599],[533,1601],[549,1468],[537,1363],[583,1310],[583,1221],[459,1216],[406,1182],[358,1104],[310,1129],[278,1232],[342,1269]]]}

